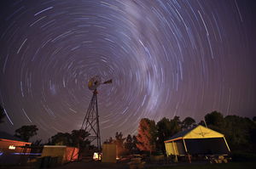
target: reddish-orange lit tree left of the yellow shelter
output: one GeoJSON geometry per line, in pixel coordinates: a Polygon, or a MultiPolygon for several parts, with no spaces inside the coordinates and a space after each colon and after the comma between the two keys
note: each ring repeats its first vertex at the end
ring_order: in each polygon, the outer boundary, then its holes
{"type": "Polygon", "coordinates": [[[155,122],[143,118],[138,127],[137,148],[150,153],[155,150],[156,146],[156,126],[155,122]]]}

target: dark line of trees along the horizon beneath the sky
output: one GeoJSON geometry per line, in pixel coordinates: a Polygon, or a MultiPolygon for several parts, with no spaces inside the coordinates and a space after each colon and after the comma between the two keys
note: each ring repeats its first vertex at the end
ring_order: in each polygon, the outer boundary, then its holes
{"type": "MultiPolygon", "coordinates": [[[[0,122],[3,122],[3,118],[4,112],[1,106],[0,122]]],[[[122,132],[116,132],[114,138],[108,138],[104,144],[116,144],[119,154],[165,153],[164,141],[177,132],[202,125],[223,133],[231,151],[256,152],[255,116],[253,119],[249,119],[238,115],[224,116],[218,111],[212,111],[204,116],[204,120],[196,123],[192,117],[186,117],[181,121],[179,116],[174,116],[172,119],[163,117],[160,121],[155,122],[154,120],[143,118],[139,122],[137,135],[128,134],[124,137],[122,132]]],[[[37,131],[38,127],[35,125],[23,126],[15,130],[15,136],[28,141],[37,134],[37,131]]],[[[84,148],[90,146],[90,141],[87,139],[89,135],[90,133],[84,130],[73,130],[71,133],[58,132],[49,138],[46,144],[84,148]]],[[[37,140],[33,144],[39,145],[42,143],[41,140],[37,140]]]]}

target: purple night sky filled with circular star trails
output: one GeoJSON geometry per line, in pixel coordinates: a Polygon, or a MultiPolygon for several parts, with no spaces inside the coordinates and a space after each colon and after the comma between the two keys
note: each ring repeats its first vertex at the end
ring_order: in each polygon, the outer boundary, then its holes
{"type": "Polygon", "coordinates": [[[143,117],[256,113],[251,0],[17,0],[0,4],[1,130],[79,129],[98,88],[102,141],[143,117]]]}

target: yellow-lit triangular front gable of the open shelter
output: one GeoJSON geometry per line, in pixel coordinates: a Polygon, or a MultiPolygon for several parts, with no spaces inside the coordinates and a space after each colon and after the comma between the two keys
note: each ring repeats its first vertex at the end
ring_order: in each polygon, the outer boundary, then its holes
{"type": "Polygon", "coordinates": [[[223,138],[224,135],[215,132],[212,129],[209,129],[207,127],[198,126],[195,127],[193,130],[188,132],[185,136],[183,136],[184,139],[190,139],[190,138],[223,138]]]}

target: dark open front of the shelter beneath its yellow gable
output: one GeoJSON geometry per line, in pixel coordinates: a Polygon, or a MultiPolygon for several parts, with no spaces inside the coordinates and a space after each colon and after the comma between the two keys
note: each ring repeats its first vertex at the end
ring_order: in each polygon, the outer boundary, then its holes
{"type": "Polygon", "coordinates": [[[185,139],[190,155],[228,154],[229,149],[224,138],[185,139]]]}

